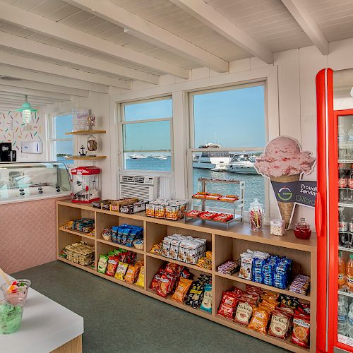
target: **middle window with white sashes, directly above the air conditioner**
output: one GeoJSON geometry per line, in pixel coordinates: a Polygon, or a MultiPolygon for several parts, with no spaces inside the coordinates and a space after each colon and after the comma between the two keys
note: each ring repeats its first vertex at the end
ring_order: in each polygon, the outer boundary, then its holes
{"type": "Polygon", "coordinates": [[[172,170],[172,98],[121,104],[123,169],[172,170]]]}

